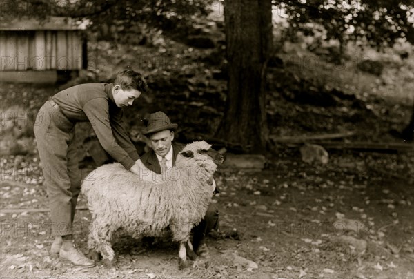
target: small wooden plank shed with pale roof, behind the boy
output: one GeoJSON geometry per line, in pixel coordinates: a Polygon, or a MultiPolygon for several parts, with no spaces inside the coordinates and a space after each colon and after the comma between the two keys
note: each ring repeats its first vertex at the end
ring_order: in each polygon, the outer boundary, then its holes
{"type": "Polygon", "coordinates": [[[0,23],[0,81],[54,83],[86,68],[83,29],[68,17],[0,23]]]}

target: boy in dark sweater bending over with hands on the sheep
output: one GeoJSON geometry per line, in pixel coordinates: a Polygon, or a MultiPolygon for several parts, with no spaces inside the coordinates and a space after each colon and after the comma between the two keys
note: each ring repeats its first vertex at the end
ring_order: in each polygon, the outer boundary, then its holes
{"type": "Polygon", "coordinates": [[[34,135],[55,235],[52,255],[59,254],[81,267],[95,266],[73,244],[72,223],[81,187],[75,123],[90,121],[99,143],[112,158],[138,174],[137,179],[152,180],[122,123],[122,107],[132,105],[147,88],[141,74],[124,70],[117,74],[114,83],[88,83],[58,92],[39,110],[34,135]]]}

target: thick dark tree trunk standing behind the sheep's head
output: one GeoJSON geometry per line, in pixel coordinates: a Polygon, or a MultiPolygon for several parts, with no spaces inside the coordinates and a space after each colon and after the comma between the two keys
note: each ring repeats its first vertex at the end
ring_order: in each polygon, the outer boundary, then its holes
{"type": "Polygon", "coordinates": [[[272,45],[271,0],[226,0],[228,95],[216,136],[263,153],[266,123],[266,65],[272,45]]]}

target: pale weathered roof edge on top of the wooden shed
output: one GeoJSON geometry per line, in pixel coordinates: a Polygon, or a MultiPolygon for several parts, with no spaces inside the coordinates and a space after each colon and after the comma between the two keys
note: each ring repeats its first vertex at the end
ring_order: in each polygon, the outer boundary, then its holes
{"type": "Polygon", "coordinates": [[[1,21],[1,31],[27,31],[27,30],[84,30],[84,24],[77,23],[71,17],[49,17],[45,21],[39,19],[14,19],[1,21]]]}

